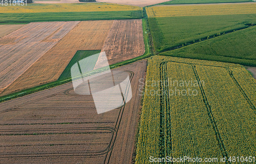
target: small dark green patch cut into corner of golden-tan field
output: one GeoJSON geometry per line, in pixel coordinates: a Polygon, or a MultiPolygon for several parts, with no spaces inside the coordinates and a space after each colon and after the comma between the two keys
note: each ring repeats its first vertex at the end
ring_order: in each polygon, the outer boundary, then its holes
{"type": "MultiPolygon", "coordinates": [[[[67,78],[71,78],[71,67],[77,63],[78,61],[90,57],[93,54],[97,54],[100,53],[100,50],[78,50],[76,52],[76,54],[74,55],[74,57],[72,58],[72,60],[69,62],[68,66],[65,68],[65,70],[62,72],[62,74],[59,76],[59,80],[61,79],[67,79],[67,78]]],[[[96,56],[95,56],[96,57],[96,56]]],[[[90,63],[87,63],[90,65],[91,68],[94,68],[97,59],[99,57],[99,54],[97,56],[97,58],[92,59],[92,61],[90,61],[90,63]]]]}

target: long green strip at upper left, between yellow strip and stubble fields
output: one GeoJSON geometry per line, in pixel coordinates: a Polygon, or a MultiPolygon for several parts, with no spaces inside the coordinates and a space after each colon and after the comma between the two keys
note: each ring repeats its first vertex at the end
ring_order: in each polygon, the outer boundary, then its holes
{"type": "Polygon", "coordinates": [[[141,19],[142,11],[106,11],[106,12],[52,12],[52,13],[0,13],[0,23],[29,23],[41,21],[76,21],[141,19]]]}

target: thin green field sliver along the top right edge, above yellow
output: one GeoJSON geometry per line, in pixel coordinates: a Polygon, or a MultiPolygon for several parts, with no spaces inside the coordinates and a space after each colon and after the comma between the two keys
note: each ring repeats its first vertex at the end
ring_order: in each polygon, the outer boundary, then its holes
{"type": "Polygon", "coordinates": [[[210,4],[210,3],[239,3],[239,2],[253,2],[251,0],[173,0],[161,3],[161,5],[174,4],[210,4]]]}

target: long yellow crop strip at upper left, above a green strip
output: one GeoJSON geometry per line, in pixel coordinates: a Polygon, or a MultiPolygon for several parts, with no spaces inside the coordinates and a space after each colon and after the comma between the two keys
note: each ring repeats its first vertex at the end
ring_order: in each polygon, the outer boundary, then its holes
{"type": "Polygon", "coordinates": [[[27,6],[0,6],[0,13],[45,13],[45,12],[94,12],[136,11],[141,7],[106,3],[86,4],[31,4],[27,6]]]}

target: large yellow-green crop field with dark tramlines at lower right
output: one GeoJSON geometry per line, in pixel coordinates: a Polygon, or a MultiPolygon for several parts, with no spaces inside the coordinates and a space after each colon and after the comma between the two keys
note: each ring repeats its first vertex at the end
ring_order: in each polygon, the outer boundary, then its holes
{"type": "Polygon", "coordinates": [[[241,65],[152,57],[136,163],[150,156],[255,156],[255,92],[241,65]]]}

